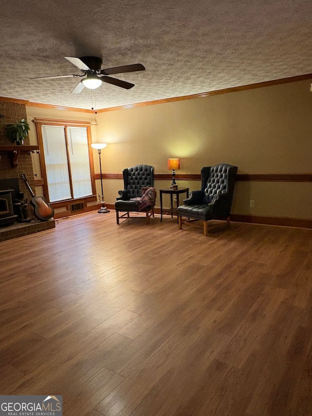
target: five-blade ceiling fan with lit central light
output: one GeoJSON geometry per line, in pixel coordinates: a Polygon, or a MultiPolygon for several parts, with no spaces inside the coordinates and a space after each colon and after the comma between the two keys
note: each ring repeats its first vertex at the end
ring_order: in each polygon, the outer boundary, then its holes
{"type": "Polygon", "coordinates": [[[72,64],[77,66],[82,75],[55,75],[53,77],[36,77],[31,79],[55,79],[55,78],[82,78],[76,85],[71,94],[80,93],[84,87],[89,89],[96,89],[102,85],[102,82],[116,85],[117,87],[125,88],[129,90],[134,87],[135,84],[122,81],[121,79],[111,78],[108,75],[121,74],[124,72],[144,71],[145,68],[141,63],[135,63],[133,65],[116,66],[115,68],[101,69],[102,59],[97,57],[64,57],[72,64]]]}

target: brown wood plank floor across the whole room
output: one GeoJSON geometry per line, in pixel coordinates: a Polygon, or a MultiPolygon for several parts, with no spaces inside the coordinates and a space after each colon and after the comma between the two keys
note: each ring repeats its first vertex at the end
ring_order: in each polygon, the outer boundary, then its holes
{"type": "Polygon", "coordinates": [[[312,230],[115,212],[0,243],[0,394],[65,416],[312,415],[312,230]]]}

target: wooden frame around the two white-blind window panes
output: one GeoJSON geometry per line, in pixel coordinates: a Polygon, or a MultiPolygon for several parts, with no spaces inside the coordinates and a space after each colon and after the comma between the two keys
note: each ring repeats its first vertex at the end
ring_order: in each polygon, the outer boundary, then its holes
{"type": "Polygon", "coordinates": [[[88,140],[88,154],[89,154],[89,164],[90,164],[90,176],[91,176],[91,187],[92,187],[92,195],[88,195],[86,197],[79,197],[79,198],[69,198],[69,199],[62,199],[61,201],[51,202],[53,206],[65,203],[78,201],[78,200],[93,200],[97,198],[96,196],[96,182],[95,182],[95,173],[94,173],[94,159],[93,159],[93,151],[91,148],[92,137],[91,137],[91,123],[88,121],[70,121],[70,120],[58,120],[58,119],[35,119],[36,124],[36,133],[37,139],[39,144],[39,153],[40,153],[40,164],[41,164],[41,175],[43,179],[43,196],[44,198],[50,203],[49,198],[49,191],[48,191],[48,182],[47,182],[47,174],[46,174],[46,165],[45,165],[45,158],[44,158],[44,147],[43,147],[43,139],[42,139],[42,130],[41,127],[44,125],[51,125],[51,126],[64,126],[64,134],[65,134],[65,143],[66,143],[66,156],[67,156],[67,163],[69,167],[69,185],[71,190],[71,195],[73,196],[73,183],[72,183],[72,176],[71,176],[71,169],[70,169],[70,159],[68,153],[68,137],[67,137],[67,128],[68,127],[86,127],[87,129],[87,140],[88,140]]]}

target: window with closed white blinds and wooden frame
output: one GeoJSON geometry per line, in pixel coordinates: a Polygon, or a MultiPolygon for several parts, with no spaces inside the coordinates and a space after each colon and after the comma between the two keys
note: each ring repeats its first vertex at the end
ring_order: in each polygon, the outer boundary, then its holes
{"type": "Polygon", "coordinates": [[[90,126],[37,122],[44,190],[50,202],[95,194],[90,126]],[[43,155],[42,155],[43,153],[43,155]]]}

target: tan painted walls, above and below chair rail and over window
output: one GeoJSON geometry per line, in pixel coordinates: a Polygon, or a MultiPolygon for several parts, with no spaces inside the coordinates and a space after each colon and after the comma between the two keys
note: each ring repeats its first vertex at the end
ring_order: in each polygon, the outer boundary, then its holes
{"type": "MultiPolygon", "coordinates": [[[[93,141],[108,143],[102,151],[102,171],[121,173],[125,167],[146,163],[154,165],[156,173],[170,173],[167,158],[179,157],[179,174],[199,173],[201,167],[219,162],[237,165],[239,173],[311,173],[311,82],[98,113],[93,141]]],[[[28,120],[95,118],[79,112],[26,109],[28,120]]],[[[96,151],[94,161],[98,173],[96,151]]],[[[191,190],[200,187],[199,181],[178,183],[191,190]]],[[[157,180],[156,189],[169,184],[157,180]]],[[[114,203],[122,187],[121,179],[104,180],[106,202],[114,203]]],[[[311,182],[237,182],[232,212],[312,218],[311,188],[311,182]],[[250,200],[255,201],[254,208],[250,200]]]]}

